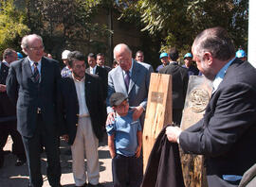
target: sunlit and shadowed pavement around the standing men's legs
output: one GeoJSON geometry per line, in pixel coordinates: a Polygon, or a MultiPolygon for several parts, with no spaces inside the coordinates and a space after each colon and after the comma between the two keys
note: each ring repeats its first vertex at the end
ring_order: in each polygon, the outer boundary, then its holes
{"type": "MultiPolygon", "coordinates": [[[[9,137],[5,150],[11,149],[11,138],[9,137]]],[[[64,187],[73,187],[74,179],[72,175],[72,159],[68,154],[69,147],[64,142],[61,142],[61,166],[62,166],[62,180],[61,183],[64,187]]],[[[109,155],[107,140],[104,138],[103,142],[99,145],[99,158],[100,158],[100,182],[105,187],[112,186],[112,172],[111,172],[111,158],[109,155]]],[[[27,187],[28,185],[28,171],[27,164],[22,166],[14,166],[16,157],[11,153],[5,155],[4,166],[0,168],[0,187],[27,187]]],[[[85,161],[86,162],[86,161],[85,161]]],[[[49,187],[46,178],[46,155],[42,155],[42,174],[44,178],[43,187],[49,187]]]]}

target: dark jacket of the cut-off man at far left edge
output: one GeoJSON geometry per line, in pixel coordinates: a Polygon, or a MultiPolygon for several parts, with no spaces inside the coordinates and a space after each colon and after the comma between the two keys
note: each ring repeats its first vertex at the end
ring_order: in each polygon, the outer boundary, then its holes
{"type": "MultiPolygon", "coordinates": [[[[6,80],[9,73],[9,67],[3,62],[0,62],[0,63],[1,63],[0,84],[6,85],[6,80]]],[[[7,92],[0,93],[0,118],[10,117],[10,116],[13,116],[13,118],[15,118],[16,116],[15,106],[9,100],[9,96],[7,92]]]]}

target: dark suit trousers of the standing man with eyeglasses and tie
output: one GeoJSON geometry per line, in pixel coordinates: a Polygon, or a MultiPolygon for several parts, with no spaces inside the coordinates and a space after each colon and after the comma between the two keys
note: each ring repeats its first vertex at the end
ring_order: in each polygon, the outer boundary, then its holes
{"type": "Polygon", "coordinates": [[[31,187],[42,187],[41,174],[42,145],[46,149],[47,170],[49,184],[53,187],[60,186],[61,165],[59,154],[59,137],[54,128],[50,131],[45,127],[42,115],[38,114],[37,128],[32,138],[22,137],[27,155],[29,183],[31,187]]]}

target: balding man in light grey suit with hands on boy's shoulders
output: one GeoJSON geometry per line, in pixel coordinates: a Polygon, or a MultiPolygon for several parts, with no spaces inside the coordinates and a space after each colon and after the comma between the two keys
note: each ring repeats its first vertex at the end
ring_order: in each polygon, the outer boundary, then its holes
{"type": "MultiPolygon", "coordinates": [[[[119,62],[119,66],[108,74],[107,124],[114,120],[114,111],[110,107],[109,98],[112,93],[119,92],[127,96],[130,108],[134,110],[133,118],[139,119],[143,128],[150,76],[154,70],[150,64],[132,59],[132,51],[124,43],[114,48],[114,58],[119,62]]],[[[139,159],[138,168],[141,171],[139,177],[142,180],[143,164],[141,157],[139,159]]]]}

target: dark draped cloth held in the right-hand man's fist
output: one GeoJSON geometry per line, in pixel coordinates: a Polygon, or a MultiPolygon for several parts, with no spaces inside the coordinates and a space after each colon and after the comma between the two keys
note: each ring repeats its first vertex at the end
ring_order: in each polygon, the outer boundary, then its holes
{"type": "Polygon", "coordinates": [[[141,187],[185,187],[178,144],[168,141],[165,130],[155,140],[141,187]]]}

